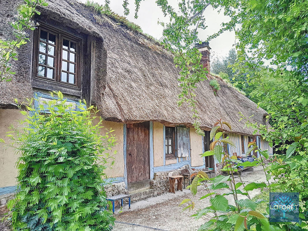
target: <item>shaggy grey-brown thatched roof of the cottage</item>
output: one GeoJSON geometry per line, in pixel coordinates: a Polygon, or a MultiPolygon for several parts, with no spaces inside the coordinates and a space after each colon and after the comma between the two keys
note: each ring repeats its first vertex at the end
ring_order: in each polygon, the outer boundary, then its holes
{"type": "MultiPolygon", "coordinates": [[[[16,3],[8,1],[5,10],[0,10],[1,24],[7,25],[11,18],[6,12],[13,12],[16,3]]],[[[96,60],[107,60],[107,70],[96,72],[95,99],[103,118],[117,122],[160,121],[164,124],[193,123],[192,113],[187,105],[177,106],[180,88],[178,87],[179,69],[173,63],[172,56],[146,36],[119,25],[114,19],[97,14],[83,4],[69,0],[49,0],[48,7],[39,9],[42,14],[76,28],[83,33],[91,34],[103,41],[97,49],[107,51],[107,57],[96,60]]],[[[20,2],[19,2],[20,3],[20,2]]],[[[0,37],[7,33],[10,26],[0,29],[0,37]]],[[[24,52],[30,52],[30,45],[24,52]]],[[[0,106],[32,96],[29,55],[19,53],[20,71],[10,83],[0,83],[0,106]]],[[[31,52],[29,53],[31,54],[31,52]]],[[[102,55],[102,54],[101,54],[102,55]]],[[[213,77],[214,78],[214,77],[213,77]]],[[[266,111],[257,108],[250,99],[229,87],[218,78],[221,90],[215,96],[209,81],[198,84],[197,110],[200,112],[200,123],[205,129],[212,128],[217,119],[230,122],[237,133],[252,134],[244,127],[244,120],[239,120],[241,111],[250,120],[263,124],[266,111]]]]}

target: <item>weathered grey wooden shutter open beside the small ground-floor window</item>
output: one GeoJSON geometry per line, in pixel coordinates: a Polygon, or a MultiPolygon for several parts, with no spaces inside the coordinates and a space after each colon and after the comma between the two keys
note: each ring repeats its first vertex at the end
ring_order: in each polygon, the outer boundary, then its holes
{"type": "Polygon", "coordinates": [[[188,157],[190,148],[189,128],[176,128],[177,157],[188,157]]]}

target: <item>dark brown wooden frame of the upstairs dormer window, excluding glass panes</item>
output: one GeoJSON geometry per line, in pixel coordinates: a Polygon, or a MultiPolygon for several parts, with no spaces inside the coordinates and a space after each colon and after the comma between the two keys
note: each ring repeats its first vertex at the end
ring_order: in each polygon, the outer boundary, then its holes
{"type": "MultiPolygon", "coordinates": [[[[69,34],[63,30],[59,30],[57,28],[54,28],[52,26],[49,26],[45,23],[39,22],[40,26],[37,30],[34,30],[34,80],[43,80],[43,81],[47,81],[50,83],[56,83],[56,84],[60,84],[61,86],[65,86],[71,89],[75,89],[75,90],[79,90],[81,89],[81,52],[83,50],[82,47],[82,39],[78,38],[72,34],[69,34]],[[56,35],[56,39],[55,39],[55,53],[53,55],[54,58],[54,78],[53,79],[49,79],[47,77],[43,77],[43,76],[39,76],[38,75],[38,68],[39,68],[39,54],[41,54],[42,52],[39,51],[39,43],[40,43],[40,32],[41,29],[43,29],[44,31],[47,31],[47,36],[49,33],[55,34],[56,35]],[[67,39],[69,41],[73,41],[76,43],[77,46],[77,51],[74,52],[75,53],[75,83],[67,83],[67,82],[62,82],[61,81],[61,72],[62,72],[62,52],[63,52],[63,39],[67,39]]],[[[47,37],[48,40],[48,37],[47,37]]],[[[46,41],[46,44],[49,44],[48,41],[46,41]]],[[[48,47],[49,45],[47,45],[48,47]]],[[[46,50],[48,49],[46,47],[46,50]]],[[[46,51],[48,52],[48,51],[46,51]]],[[[70,55],[70,52],[68,52],[68,55],[70,55]]],[[[43,54],[43,53],[42,53],[43,54]]],[[[48,57],[47,53],[44,53],[44,55],[46,55],[46,59],[48,57]]],[[[69,59],[69,58],[68,58],[69,59]]],[[[69,65],[70,62],[68,62],[69,65]]],[[[71,62],[73,63],[73,62],[71,62]]],[[[46,63],[45,63],[46,64],[46,63]]],[[[47,76],[47,65],[42,65],[41,66],[45,67],[45,76],[47,76]]],[[[69,73],[69,71],[66,71],[67,73],[69,73]]],[[[68,77],[67,77],[68,78],[68,77]]]]}

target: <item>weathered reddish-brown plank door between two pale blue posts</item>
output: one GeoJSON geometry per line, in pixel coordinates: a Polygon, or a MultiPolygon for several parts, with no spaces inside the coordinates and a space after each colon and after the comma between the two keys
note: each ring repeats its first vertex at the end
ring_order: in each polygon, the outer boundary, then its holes
{"type": "Polygon", "coordinates": [[[130,124],[126,131],[127,183],[150,179],[150,122],[130,124]]]}

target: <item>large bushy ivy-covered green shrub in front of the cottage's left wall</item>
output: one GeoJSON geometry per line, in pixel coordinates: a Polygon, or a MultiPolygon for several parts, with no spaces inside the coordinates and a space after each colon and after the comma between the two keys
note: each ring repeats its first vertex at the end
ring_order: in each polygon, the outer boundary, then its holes
{"type": "MultiPolygon", "coordinates": [[[[22,130],[12,128],[18,160],[16,198],[8,203],[13,230],[110,230],[114,218],[106,209],[104,169],[116,138],[99,134],[93,106],[63,99],[33,100],[26,106],[22,130]],[[37,104],[37,103],[36,103],[37,104]]],[[[53,94],[52,94],[53,96],[53,94]]]]}

